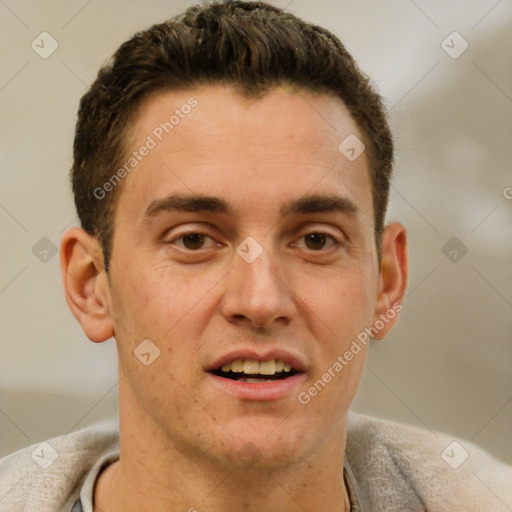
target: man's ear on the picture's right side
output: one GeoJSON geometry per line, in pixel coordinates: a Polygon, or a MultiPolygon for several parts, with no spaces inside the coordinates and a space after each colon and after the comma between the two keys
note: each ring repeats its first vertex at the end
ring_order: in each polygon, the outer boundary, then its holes
{"type": "Polygon", "coordinates": [[[377,331],[374,338],[385,338],[396,324],[408,278],[407,231],[396,222],[386,226],[382,237],[379,291],[372,324],[377,331]]]}

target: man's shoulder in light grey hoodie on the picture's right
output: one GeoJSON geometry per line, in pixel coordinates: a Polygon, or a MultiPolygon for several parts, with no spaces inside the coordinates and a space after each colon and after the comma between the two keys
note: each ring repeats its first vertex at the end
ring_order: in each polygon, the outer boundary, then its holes
{"type": "Polygon", "coordinates": [[[512,507],[512,468],[468,441],[351,413],[346,457],[369,510],[512,507]]]}

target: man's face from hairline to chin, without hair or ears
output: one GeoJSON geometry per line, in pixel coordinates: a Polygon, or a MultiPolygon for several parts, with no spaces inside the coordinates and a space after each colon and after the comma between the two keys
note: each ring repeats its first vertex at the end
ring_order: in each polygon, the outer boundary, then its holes
{"type": "Polygon", "coordinates": [[[375,319],[371,183],[365,153],[338,149],[349,134],[362,138],[340,100],[306,92],[208,87],[142,105],[131,148],[156,146],[123,183],[109,272],[121,422],[231,465],[343,438],[363,345],[308,404],[299,395],[375,319]]]}

